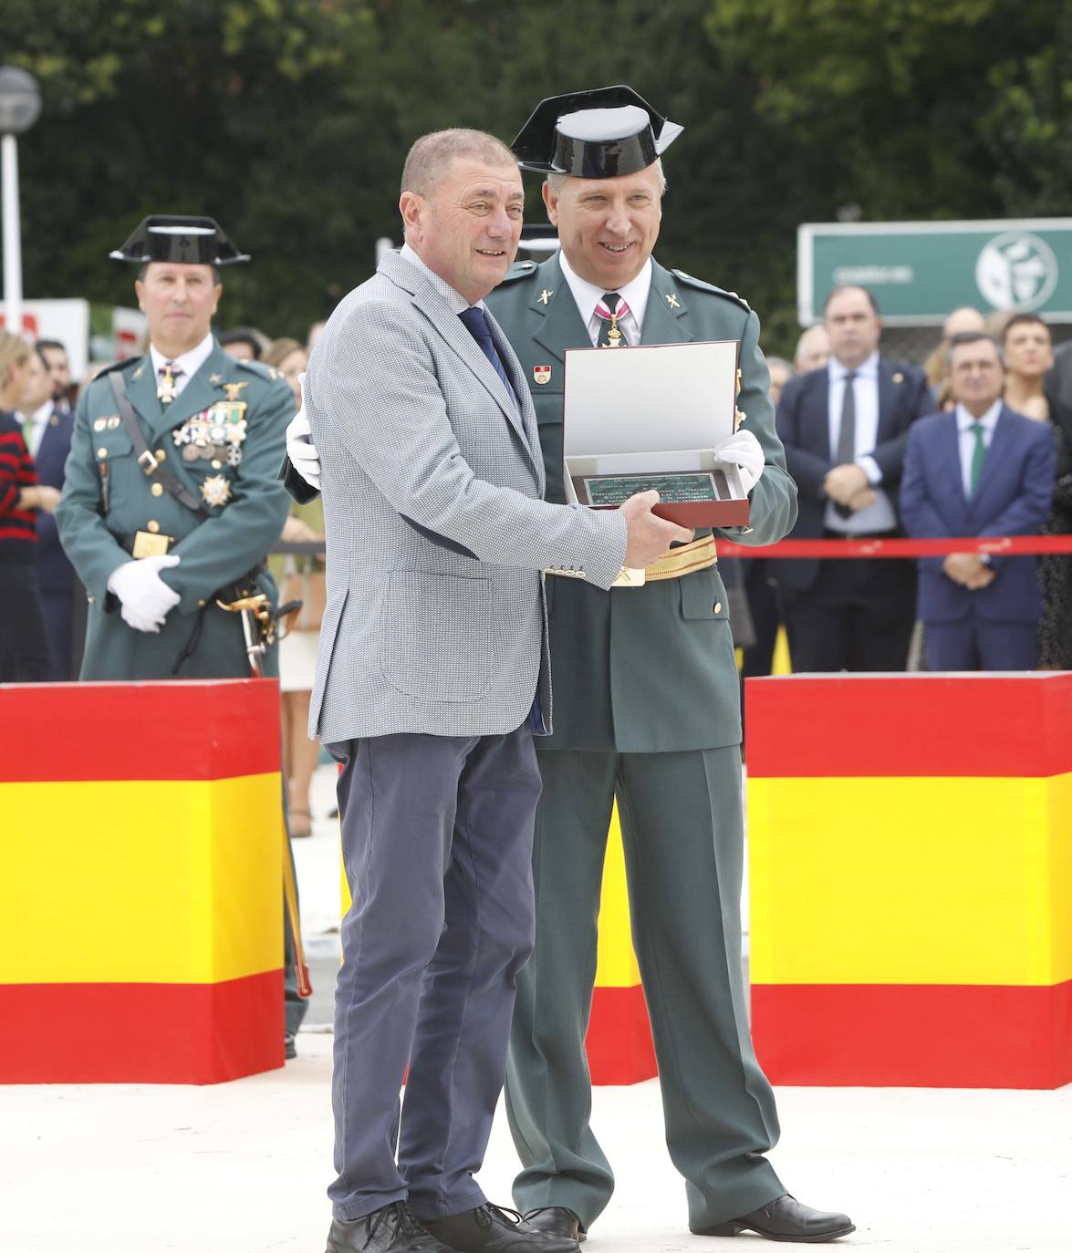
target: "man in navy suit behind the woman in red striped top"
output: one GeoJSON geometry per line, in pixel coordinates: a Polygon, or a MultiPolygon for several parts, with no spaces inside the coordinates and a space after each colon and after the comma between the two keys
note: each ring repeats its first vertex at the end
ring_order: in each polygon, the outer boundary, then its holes
{"type": "MultiPolygon", "coordinates": [[[[49,363],[40,346],[30,362],[33,370],[23,400],[26,447],[34,459],[38,481],[63,489],[74,415],[64,398],[55,396],[49,363]]],[[[44,510],[38,515],[38,579],[49,639],[50,678],[53,682],[66,682],[76,673],[71,644],[74,568],[60,546],[55,517],[44,510]]]]}

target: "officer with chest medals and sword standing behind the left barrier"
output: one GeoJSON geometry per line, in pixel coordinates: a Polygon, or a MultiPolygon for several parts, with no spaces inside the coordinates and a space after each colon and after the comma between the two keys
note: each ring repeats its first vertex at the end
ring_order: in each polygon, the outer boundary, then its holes
{"type": "MultiPolygon", "coordinates": [[[[248,678],[247,630],[276,675],[265,560],[290,506],[276,470],[293,393],[211,330],[219,268],[250,258],[212,218],[163,214],[110,256],[139,267],[149,351],[102,371],[78,403],[55,516],[89,601],[80,677],[248,678]],[[244,623],[219,604],[248,598],[244,623]]],[[[288,1055],[305,1014],[293,985],[288,969],[288,1055]]]]}

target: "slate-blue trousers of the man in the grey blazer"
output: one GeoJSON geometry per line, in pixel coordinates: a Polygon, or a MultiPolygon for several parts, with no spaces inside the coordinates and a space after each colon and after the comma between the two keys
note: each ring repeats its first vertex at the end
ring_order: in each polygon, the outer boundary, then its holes
{"type": "Polygon", "coordinates": [[[463,1213],[484,1203],[473,1175],[533,944],[532,730],[328,748],[342,763],[354,897],[335,994],[328,1197],[342,1219],[405,1199],[418,1217],[463,1213]]]}

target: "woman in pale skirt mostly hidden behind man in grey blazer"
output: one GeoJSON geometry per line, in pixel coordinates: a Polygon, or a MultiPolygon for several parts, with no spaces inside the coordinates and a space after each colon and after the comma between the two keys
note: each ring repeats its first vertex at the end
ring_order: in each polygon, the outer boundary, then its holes
{"type": "MultiPolygon", "coordinates": [[[[308,352],[297,340],[275,340],[261,362],[275,366],[291,385],[295,410],[301,408],[301,382],[308,365],[308,352]]],[[[320,497],[308,505],[292,505],[291,516],[280,539],[285,544],[323,543],[323,505],[320,497]]],[[[280,583],[280,604],[301,600],[302,608],[291,614],[286,634],[280,640],[280,717],[283,736],[283,774],[287,781],[287,812],[291,838],[312,834],[310,788],[320,744],[308,738],[308,702],[316,674],[316,648],[320,620],[327,599],[323,559],[312,554],[291,554],[273,573],[280,583]]]]}

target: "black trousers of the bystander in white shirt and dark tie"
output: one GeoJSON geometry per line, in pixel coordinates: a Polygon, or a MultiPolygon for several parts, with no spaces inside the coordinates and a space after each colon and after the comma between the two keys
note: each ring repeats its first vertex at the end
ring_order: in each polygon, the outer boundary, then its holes
{"type": "MultiPolygon", "coordinates": [[[[830,538],[845,536],[828,531],[830,538]]],[[[903,670],[915,621],[915,563],[820,561],[815,583],[786,598],[785,616],[799,673],[903,670]]]]}

